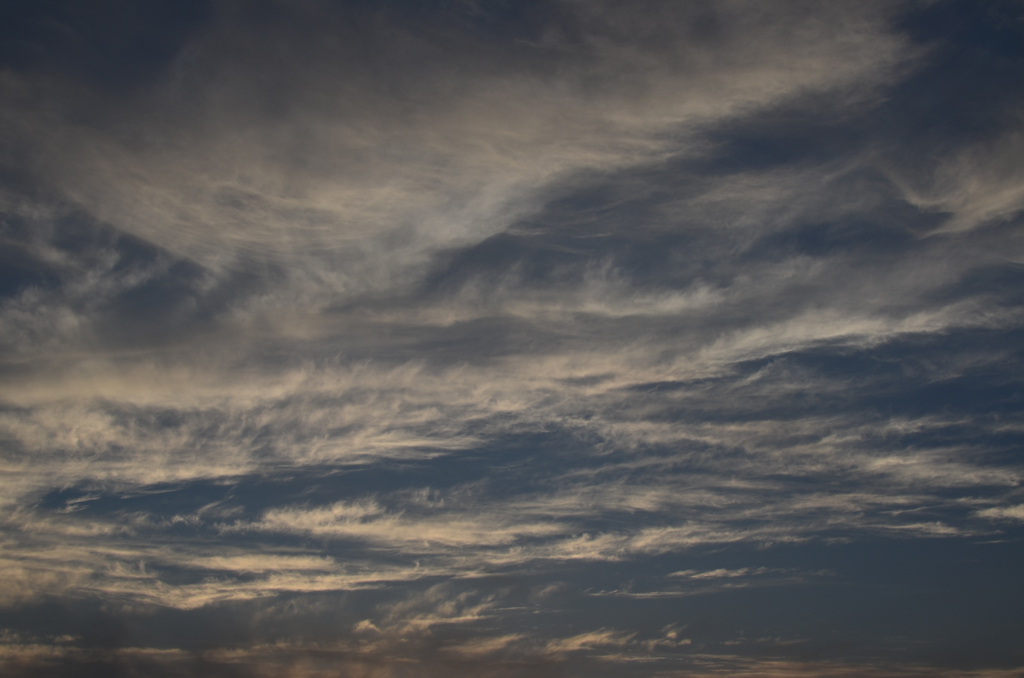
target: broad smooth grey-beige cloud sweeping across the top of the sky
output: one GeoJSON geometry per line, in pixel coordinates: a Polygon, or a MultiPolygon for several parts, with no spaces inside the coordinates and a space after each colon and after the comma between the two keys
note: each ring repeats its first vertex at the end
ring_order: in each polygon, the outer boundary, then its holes
{"type": "MultiPolygon", "coordinates": [[[[651,40],[668,38],[669,26],[685,26],[689,10],[650,9],[637,23],[613,18],[610,6],[572,5],[584,16],[578,41],[542,41],[511,61],[528,63],[543,54],[561,65],[553,69],[558,75],[527,77],[501,66],[504,55],[483,45],[470,46],[482,56],[477,62],[494,65],[481,72],[474,59],[453,60],[444,45],[400,30],[376,36],[388,47],[371,48],[366,38],[342,47],[321,39],[325,23],[345,25],[326,6],[293,15],[321,25],[302,44],[281,27],[240,22],[227,11],[184,52],[176,80],[162,85],[167,93],[158,87],[158,101],[187,92],[198,109],[154,116],[152,104],[134,104],[120,124],[129,135],[144,134],[135,143],[102,128],[54,120],[42,126],[8,116],[26,138],[61,139],[59,151],[46,142],[51,150],[40,152],[61,168],[51,173],[62,177],[58,190],[171,251],[216,266],[238,255],[302,254],[343,244],[338,261],[350,258],[346,250],[362,250],[356,256],[387,270],[388,259],[415,262],[424,247],[501,230],[536,210],[549,184],[567,173],[676,153],[677,143],[659,140],[663,131],[735,116],[808,88],[846,87],[884,74],[901,55],[899,39],[852,5],[762,11],[757,19],[738,6],[709,9],[711,20],[730,28],[717,41],[692,43],[651,40]],[[670,15],[657,19],[662,11],[670,15]],[[794,31],[794,22],[802,30],[794,31]],[[274,45],[294,59],[265,62],[273,50],[257,45],[274,45]],[[684,51],[673,55],[677,49],[684,51]],[[238,68],[253,59],[263,68],[238,68]],[[388,82],[398,73],[392,60],[414,67],[415,77],[388,82]],[[328,66],[353,61],[370,72],[389,70],[368,80],[328,66]],[[284,119],[252,108],[283,85],[300,97],[288,97],[284,119]],[[396,105],[402,100],[410,104],[396,105]],[[197,118],[200,131],[190,124],[197,118]],[[61,133],[54,135],[55,128],[61,133]],[[389,252],[388,259],[375,251],[389,252]]],[[[517,49],[524,49],[521,43],[517,49]]],[[[333,289],[357,289],[379,277],[356,270],[364,282],[346,274],[333,289]]]]}

